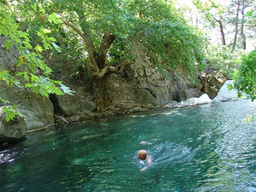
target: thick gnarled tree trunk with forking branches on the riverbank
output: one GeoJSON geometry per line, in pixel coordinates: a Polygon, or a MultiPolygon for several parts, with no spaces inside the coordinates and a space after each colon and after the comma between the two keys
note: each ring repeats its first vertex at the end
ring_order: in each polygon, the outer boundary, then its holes
{"type": "MultiPolygon", "coordinates": [[[[104,111],[104,107],[110,105],[110,96],[109,96],[109,79],[112,73],[120,73],[128,63],[128,60],[123,58],[119,62],[118,66],[111,67],[106,64],[106,56],[109,47],[115,40],[115,36],[109,31],[106,31],[102,37],[101,44],[99,49],[95,49],[93,41],[91,40],[91,32],[88,27],[88,23],[85,19],[83,12],[77,11],[79,15],[80,30],[78,27],[69,23],[68,21],[62,20],[62,22],[71,27],[75,32],[77,32],[81,38],[84,40],[84,43],[87,46],[89,58],[91,62],[91,71],[92,71],[92,92],[93,92],[93,101],[98,106],[99,111],[104,111]]],[[[135,39],[135,37],[134,37],[135,39]]],[[[133,42],[132,42],[133,44],[133,42]]]]}

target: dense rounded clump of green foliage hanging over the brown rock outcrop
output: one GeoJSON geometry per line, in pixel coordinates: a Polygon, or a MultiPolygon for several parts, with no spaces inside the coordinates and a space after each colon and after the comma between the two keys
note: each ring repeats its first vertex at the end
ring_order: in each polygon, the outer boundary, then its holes
{"type": "Polygon", "coordinates": [[[154,6],[145,3],[140,21],[143,33],[139,35],[148,57],[157,69],[182,69],[189,76],[195,75],[203,64],[203,36],[186,23],[180,12],[174,11],[174,5],[165,1],[149,2],[154,6]]]}

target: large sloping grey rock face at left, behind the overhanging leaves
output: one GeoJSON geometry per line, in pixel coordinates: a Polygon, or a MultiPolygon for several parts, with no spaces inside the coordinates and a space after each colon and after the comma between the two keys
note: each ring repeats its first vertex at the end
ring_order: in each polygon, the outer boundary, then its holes
{"type": "MultiPolygon", "coordinates": [[[[8,50],[3,49],[3,44],[6,38],[0,38],[0,70],[8,70],[10,73],[24,70],[24,67],[16,67],[19,52],[15,46],[8,50]]],[[[22,79],[19,79],[22,81],[22,79]]],[[[54,123],[53,105],[48,98],[34,94],[30,89],[24,87],[9,87],[5,81],[0,81],[0,96],[9,101],[12,105],[17,105],[17,108],[26,115],[24,123],[25,131],[44,128],[54,123]]],[[[0,105],[3,105],[0,103],[0,105]]],[[[2,116],[1,116],[2,118],[2,116]]],[[[2,121],[2,123],[4,123],[2,121]]],[[[8,126],[6,131],[15,132],[12,130],[15,126],[19,127],[18,121],[12,122],[12,126],[8,126]]],[[[5,123],[4,123],[5,124],[5,123]]],[[[8,135],[8,134],[7,134],[8,135]]],[[[23,136],[22,134],[20,134],[23,136]]]]}

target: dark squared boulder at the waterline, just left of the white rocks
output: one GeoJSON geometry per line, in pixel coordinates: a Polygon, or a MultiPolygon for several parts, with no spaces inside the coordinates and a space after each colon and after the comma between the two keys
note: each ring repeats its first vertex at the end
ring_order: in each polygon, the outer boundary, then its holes
{"type": "Polygon", "coordinates": [[[194,88],[174,91],[174,100],[177,102],[186,101],[189,98],[199,98],[198,91],[194,88]]]}

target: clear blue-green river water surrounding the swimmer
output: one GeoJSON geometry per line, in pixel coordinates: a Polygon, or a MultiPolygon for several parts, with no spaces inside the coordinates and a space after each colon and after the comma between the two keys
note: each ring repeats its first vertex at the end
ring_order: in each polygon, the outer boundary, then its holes
{"type": "Polygon", "coordinates": [[[255,192],[256,102],[72,123],[0,151],[2,192],[255,192]],[[146,149],[152,165],[137,160],[146,149]]]}

